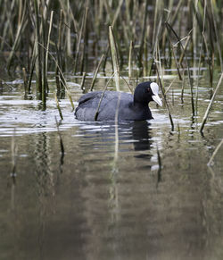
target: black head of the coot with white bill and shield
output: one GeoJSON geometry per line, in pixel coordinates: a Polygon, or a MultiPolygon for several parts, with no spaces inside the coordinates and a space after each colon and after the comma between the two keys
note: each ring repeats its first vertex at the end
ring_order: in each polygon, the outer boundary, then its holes
{"type": "Polygon", "coordinates": [[[155,82],[140,83],[134,92],[134,104],[148,105],[150,101],[155,101],[158,105],[162,105],[158,92],[159,86],[155,82]]]}

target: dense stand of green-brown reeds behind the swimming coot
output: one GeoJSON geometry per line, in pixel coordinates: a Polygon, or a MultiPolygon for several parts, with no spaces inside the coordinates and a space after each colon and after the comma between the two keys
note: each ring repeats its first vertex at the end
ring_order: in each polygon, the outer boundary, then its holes
{"type": "Polygon", "coordinates": [[[222,1],[4,0],[0,10],[3,63],[8,73],[21,71],[25,96],[36,88],[43,110],[50,71],[57,96],[66,92],[73,110],[64,73],[82,75],[81,89],[86,90],[93,90],[100,70],[114,72],[117,90],[124,75],[130,86],[136,86],[138,77],[159,75],[164,96],[162,79],[168,69],[176,68],[183,81],[182,100],[188,79],[194,117],[198,111],[194,85],[198,89],[201,66],[209,68],[210,88],[214,71],[223,70],[222,1]],[[192,66],[198,67],[196,82],[192,66]],[[94,75],[90,85],[85,84],[88,74],[94,75]]]}

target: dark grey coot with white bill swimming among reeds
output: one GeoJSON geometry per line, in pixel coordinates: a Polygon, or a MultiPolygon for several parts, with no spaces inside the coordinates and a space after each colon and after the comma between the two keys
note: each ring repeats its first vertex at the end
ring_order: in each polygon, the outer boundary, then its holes
{"type": "Polygon", "coordinates": [[[119,121],[153,119],[148,103],[155,101],[162,105],[158,91],[159,86],[155,82],[147,81],[137,85],[134,96],[117,91],[105,91],[104,95],[103,91],[89,92],[78,100],[75,115],[80,121],[113,121],[118,109],[119,121]]]}

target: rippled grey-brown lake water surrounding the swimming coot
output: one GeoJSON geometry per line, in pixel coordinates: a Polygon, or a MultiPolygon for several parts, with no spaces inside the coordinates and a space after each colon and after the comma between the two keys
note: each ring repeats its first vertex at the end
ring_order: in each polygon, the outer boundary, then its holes
{"type": "MultiPolygon", "coordinates": [[[[80,81],[68,77],[75,105],[80,81]]],[[[166,88],[171,81],[164,79],[166,88]]],[[[150,105],[153,121],[115,125],[78,122],[62,99],[64,156],[54,81],[45,112],[35,95],[24,99],[21,80],[4,85],[0,259],[223,259],[223,146],[207,165],[223,138],[223,88],[202,136],[208,82],[204,73],[193,121],[187,83],[182,103],[182,83],[174,81],[167,96],[173,132],[165,106],[150,105]]]]}

